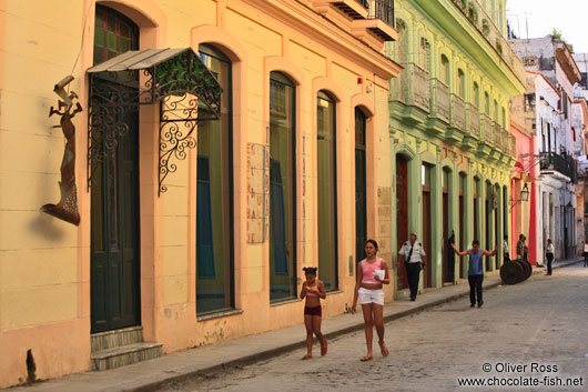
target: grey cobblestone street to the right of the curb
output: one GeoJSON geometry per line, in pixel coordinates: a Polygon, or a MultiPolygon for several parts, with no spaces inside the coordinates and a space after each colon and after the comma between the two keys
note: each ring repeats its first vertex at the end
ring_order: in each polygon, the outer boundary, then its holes
{"type": "MultiPolygon", "coordinates": [[[[376,352],[372,362],[359,362],[365,340],[358,332],[330,341],[324,358],[315,344],[311,361],[301,361],[305,351],[297,350],[244,369],[176,383],[165,391],[469,391],[474,388],[458,386],[458,378],[521,375],[540,380],[559,376],[564,382],[581,376],[584,386],[516,390],[584,391],[588,376],[588,269],[579,265],[488,290],[481,309],[469,308],[463,299],[391,322],[386,324],[388,358],[376,352]],[[491,365],[488,373],[483,371],[485,363],[491,365]],[[557,372],[531,372],[533,363],[556,365],[557,372]],[[526,371],[503,370],[517,364],[527,365],[526,371]]],[[[300,332],[304,334],[303,326],[300,332]]]]}

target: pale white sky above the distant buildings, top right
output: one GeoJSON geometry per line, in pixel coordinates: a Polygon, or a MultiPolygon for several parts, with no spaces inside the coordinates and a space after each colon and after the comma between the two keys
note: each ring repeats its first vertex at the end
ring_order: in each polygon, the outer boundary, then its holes
{"type": "Polygon", "coordinates": [[[574,46],[588,53],[588,0],[507,0],[507,19],[518,38],[545,37],[556,28],[574,46]]]}

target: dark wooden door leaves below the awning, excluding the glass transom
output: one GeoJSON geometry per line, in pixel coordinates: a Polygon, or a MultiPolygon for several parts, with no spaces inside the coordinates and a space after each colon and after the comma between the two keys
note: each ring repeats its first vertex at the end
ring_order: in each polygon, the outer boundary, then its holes
{"type": "Polygon", "coordinates": [[[91,332],[140,323],[139,115],[123,120],[110,157],[93,173],[91,200],[91,332]]]}

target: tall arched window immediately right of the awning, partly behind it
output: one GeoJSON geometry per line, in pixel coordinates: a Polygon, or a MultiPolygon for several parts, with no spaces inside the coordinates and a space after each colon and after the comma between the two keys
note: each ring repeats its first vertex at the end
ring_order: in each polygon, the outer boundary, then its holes
{"type": "Polygon", "coordinates": [[[231,60],[206,44],[199,56],[223,89],[221,118],[197,127],[196,313],[202,314],[234,306],[233,137],[231,60]]]}

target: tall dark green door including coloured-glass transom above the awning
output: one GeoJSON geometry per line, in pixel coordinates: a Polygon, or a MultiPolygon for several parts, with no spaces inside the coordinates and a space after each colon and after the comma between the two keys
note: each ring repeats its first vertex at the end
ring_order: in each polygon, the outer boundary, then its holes
{"type": "MultiPolygon", "coordinates": [[[[138,48],[138,27],[123,14],[97,6],[94,64],[138,48]]],[[[138,74],[130,77],[138,78],[138,74]]],[[[123,89],[115,84],[111,88],[123,89]]],[[[130,93],[132,96],[133,92],[130,93]]],[[[122,114],[113,115],[118,118],[122,114]]],[[[108,157],[92,173],[92,333],[136,325],[140,322],[139,113],[126,113],[121,121],[126,129],[125,135],[116,138],[113,150],[105,150],[108,157]]],[[[100,141],[107,137],[97,134],[94,140],[100,141]]]]}

